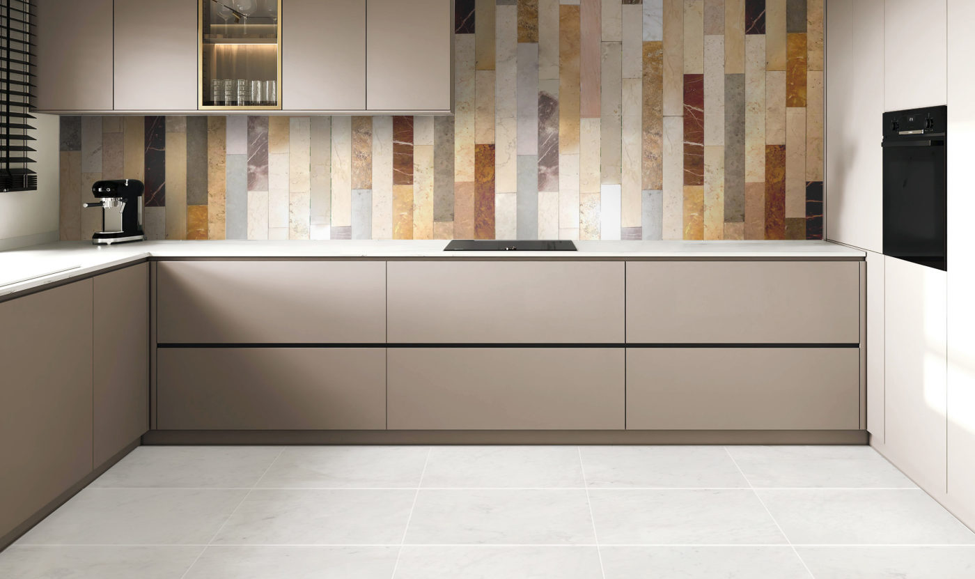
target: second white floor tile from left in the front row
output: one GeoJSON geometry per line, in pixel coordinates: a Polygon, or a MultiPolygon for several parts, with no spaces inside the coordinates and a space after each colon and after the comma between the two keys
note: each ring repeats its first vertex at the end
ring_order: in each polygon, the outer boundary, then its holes
{"type": "Polygon", "coordinates": [[[399,547],[208,547],[185,579],[389,579],[399,547]]]}

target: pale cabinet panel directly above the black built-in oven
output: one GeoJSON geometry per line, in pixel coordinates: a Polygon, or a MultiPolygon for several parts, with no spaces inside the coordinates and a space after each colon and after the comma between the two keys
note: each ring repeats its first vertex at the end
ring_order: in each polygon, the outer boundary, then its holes
{"type": "Polygon", "coordinates": [[[886,0],[885,110],[936,106],[948,100],[947,6],[946,0],[886,0]]]}

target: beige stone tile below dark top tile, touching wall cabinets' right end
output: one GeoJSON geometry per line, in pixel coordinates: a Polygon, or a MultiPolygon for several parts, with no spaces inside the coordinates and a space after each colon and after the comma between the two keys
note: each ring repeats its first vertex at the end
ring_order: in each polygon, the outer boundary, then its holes
{"type": "MultiPolygon", "coordinates": [[[[475,81],[474,37],[453,42],[453,172],[455,181],[474,180],[475,81]]],[[[373,191],[375,193],[375,191],[373,191]]]]}

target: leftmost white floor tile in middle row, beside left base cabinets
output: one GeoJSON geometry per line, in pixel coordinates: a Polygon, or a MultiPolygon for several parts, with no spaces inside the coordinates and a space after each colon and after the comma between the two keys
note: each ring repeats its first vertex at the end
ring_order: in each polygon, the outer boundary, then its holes
{"type": "Polygon", "coordinates": [[[86,488],[19,545],[206,545],[244,489],[86,488]]]}

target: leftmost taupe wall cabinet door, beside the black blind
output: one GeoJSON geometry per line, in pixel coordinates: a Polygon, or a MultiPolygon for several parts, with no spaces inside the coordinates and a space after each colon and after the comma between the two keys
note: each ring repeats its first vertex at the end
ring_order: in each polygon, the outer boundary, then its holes
{"type": "Polygon", "coordinates": [[[112,0],[37,4],[37,110],[111,110],[112,0]]]}

